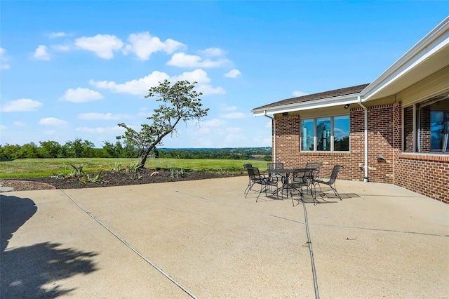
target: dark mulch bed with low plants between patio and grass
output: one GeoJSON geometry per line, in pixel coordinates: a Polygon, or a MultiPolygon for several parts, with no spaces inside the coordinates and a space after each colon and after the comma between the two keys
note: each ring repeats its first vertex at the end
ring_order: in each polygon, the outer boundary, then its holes
{"type": "MultiPolygon", "coordinates": [[[[89,173],[94,178],[97,173],[89,173]]],[[[141,169],[138,173],[126,171],[106,171],[98,182],[82,182],[79,178],[17,178],[2,179],[0,184],[5,187],[14,187],[14,191],[45,190],[45,189],[79,189],[93,187],[111,187],[125,185],[152,184],[156,182],[178,182],[182,180],[205,180],[209,178],[228,178],[245,174],[222,174],[186,171],[182,176],[173,178],[170,171],[141,169]],[[26,183],[27,185],[25,185],[26,183]]]]}

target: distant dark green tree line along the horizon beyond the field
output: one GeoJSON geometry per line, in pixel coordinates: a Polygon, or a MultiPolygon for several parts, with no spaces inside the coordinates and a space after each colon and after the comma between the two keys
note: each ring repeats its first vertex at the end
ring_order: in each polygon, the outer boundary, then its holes
{"type": "MultiPolygon", "coordinates": [[[[138,158],[141,150],[126,142],[105,141],[102,148],[93,142],[76,138],[64,145],[56,141],[29,142],[25,145],[0,145],[0,160],[36,158],[138,158]]],[[[227,148],[227,149],[154,149],[149,157],[172,159],[263,159],[272,160],[271,148],[227,148]]]]}

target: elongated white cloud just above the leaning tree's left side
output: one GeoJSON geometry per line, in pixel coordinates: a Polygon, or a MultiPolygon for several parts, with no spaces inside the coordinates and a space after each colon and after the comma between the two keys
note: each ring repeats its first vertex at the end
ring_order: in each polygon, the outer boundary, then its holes
{"type": "Polygon", "coordinates": [[[130,93],[131,95],[145,95],[148,89],[153,86],[159,86],[159,82],[169,79],[168,74],[154,71],[151,74],[140,78],[127,81],[123,84],[117,84],[114,81],[90,81],[92,86],[97,88],[109,89],[113,93],[130,93]]]}

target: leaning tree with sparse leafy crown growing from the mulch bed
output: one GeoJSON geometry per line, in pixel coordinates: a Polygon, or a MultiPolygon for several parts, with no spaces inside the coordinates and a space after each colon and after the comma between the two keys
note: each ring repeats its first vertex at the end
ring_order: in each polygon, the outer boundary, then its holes
{"type": "Polygon", "coordinates": [[[154,109],[154,114],[147,117],[149,124],[142,124],[140,131],[135,131],[126,124],[119,126],[126,128],[123,137],[128,144],[138,147],[141,151],[140,168],[145,167],[147,157],[154,147],[162,144],[162,139],[166,135],[177,134],[176,126],[180,121],[199,121],[206,117],[209,109],[202,109],[202,93],[194,91],[195,84],[189,81],[177,81],[170,84],[165,80],[159,82],[159,86],[149,89],[149,94],[145,98],[159,97],[157,102],[161,102],[159,108],[154,109]]]}

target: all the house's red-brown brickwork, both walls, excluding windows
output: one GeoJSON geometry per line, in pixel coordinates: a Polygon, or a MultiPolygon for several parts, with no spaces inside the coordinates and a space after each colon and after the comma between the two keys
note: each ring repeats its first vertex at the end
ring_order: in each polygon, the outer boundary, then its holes
{"type": "MultiPolygon", "coordinates": [[[[340,164],[344,168],[338,178],[363,180],[365,171],[359,164],[365,160],[364,110],[351,109],[350,122],[350,152],[300,152],[300,117],[276,119],[276,162],[286,168],[322,163],[322,178],[328,178],[333,166],[340,164]]],[[[449,203],[449,156],[402,154],[401,148],[401,103],[368,107],[369,181],[394,183],[449,203]]]]}

